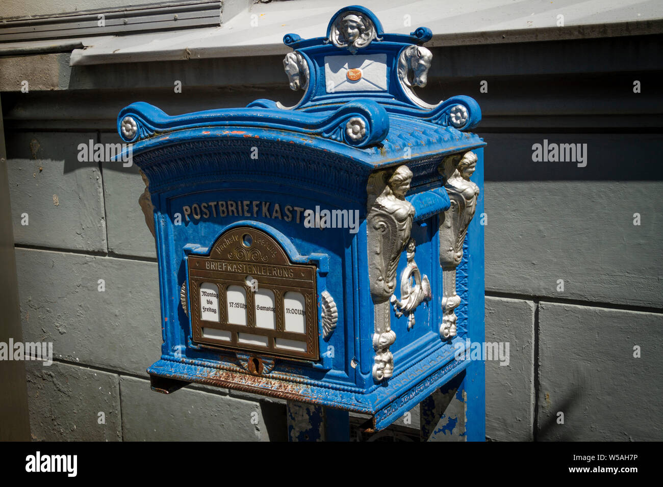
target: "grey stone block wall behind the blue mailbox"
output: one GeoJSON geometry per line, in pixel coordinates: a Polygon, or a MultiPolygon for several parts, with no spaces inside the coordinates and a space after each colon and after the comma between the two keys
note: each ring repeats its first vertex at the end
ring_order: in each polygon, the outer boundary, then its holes
{"type": "MultiPolygon", "coordinates": [[[[486,362],[489,439],[663,439],[660,41],[434,48],[422,97],[475,97],[489,144],[486,339],[510,345],[508,365],[486,362]],[[587,144],[587,166],[533,162],[544,139],[587,144]]],[[[133,101],[171,114],[292,104],[280,58],[70,68],[62,56],[12,66],[27,78],[60,70],[64,87],[1,94],[24,339],[52,341],[56,357],[28,367],[33,438],[285,439],[278,401],[151,392],[161,334],[143,183],[136,168],[76,157],[90,139],[119,142],[115,116],[133,101]]]]}

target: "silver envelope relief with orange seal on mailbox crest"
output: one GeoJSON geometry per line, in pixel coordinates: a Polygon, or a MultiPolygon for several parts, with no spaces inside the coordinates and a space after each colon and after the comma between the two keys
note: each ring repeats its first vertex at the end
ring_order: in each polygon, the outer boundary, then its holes
{"type": "Polygon", "coordinates": [[[387,91],[387,55],[325,56],[327,93],[387,91]]]}

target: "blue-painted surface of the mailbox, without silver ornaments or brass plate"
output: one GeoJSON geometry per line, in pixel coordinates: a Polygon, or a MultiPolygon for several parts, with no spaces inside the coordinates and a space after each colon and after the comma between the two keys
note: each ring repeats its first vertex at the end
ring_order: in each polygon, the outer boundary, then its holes
{"type": "MultiPolygon", "coordinates": [[[[355,54],[328,41],[331,23],[326,37],[284,37],[310,73],[306,91],[295,107],[286,109],[260,99],[243,108],[168,115],[139,101],[119,112],[118,131],[133,144],[133,162],[149,180],[154,205],[164,343],[160,359],[148,372],[155,390],[167,389],[159,379],[174,379],[308,404],[308,421],[314,428],[324,422],[324,407],[333,407],[373,415],[375,429],[383,429],[453,378],[464,378],[468,431],[477,428],[476,433],[468,433],[468,439],[476,439],[483,431],[483,376],[478,364],[455,360],[454,345],[463,347],[466,338],[483,341],[483,227],[478,226],[478,218],[472,221],[469,247],[457,274],[467,300],[457,311],[459,335],[442,341],[438,333],[442,321],[438,215],[450,207],[450,200],[438,166],[448,154],[474,150],[479,161],[473,180],[483,189],[485,143],[469,132],[481,120],[481,110],[465,95],[422,108],[400,83],[400,54],[430,40],[428,28],[389,34],[363,7],[346,7],[335,16],[348,11],[372,21],[378,34],[355,54]],[[326,58],[349,55],[385,56],[385,89],[328,92],[326,58]],[[452,124],[456,105],[467,112],[459,127],[452,124]],[[350,135],[351,123],[363,127],[362,136],[350,135]],[[257,158],[252,152],[259,154],[257,158]],[[430,279],[433,299],[417,307],[412,329],[407,320],[392,315],[391,327],[396,333],[391,347],[393,376],[376,382],[371,374],[375,351],[367,264],[367,182],[376,170],[394,170],[402,164],[414,174],[407,194],[416,211],[411,235],[416,240],[416,264],[430,279]],[[359,228],[357,233],[307,228],[294,218],[286,221],[280,211],[279,217],[255,211],[238,214],[236,210],[221,214],[220,209],[211,215],[208,206],[204,210],[208,216],[183,215],[184,207],[202,207],[206,202],[216,206],[219,201],[240,201],[238,207],[259,201],[280,209],[319,206],[357,211],[359,228]],[[180,306],[188,259],[206,255],[225,231],[238,226],[269,233],[293,263],[316,266],[318,295],[327,291],[339,315],[330,337],[324,339],[320,331],[319,360],[211,349],[192,340],[190,316],[180,306]],[[328,347],[333,347],[332,355],[324,353],[328,347]],[[264,364],[260,375],[247,370],[253,356],[264,364]]],[[[477,215],[481,211],[483,199],[477,203],[477,215]]],[[[405,266],[403,252],[397,275],[405,266]]],[[[185,302],[191,309],[188,293],[185,302]]],[[[320,300],[316,307],[320,321],[320,300]]],[[[332,411],[330,417],[334,415],[332,411]]],[[[342,415],[335,421],[341,419],[342,415]]]]}

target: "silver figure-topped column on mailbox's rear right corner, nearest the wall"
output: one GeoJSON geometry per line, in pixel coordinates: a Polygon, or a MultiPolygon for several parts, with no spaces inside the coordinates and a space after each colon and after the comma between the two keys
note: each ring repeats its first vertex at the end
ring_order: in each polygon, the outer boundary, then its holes
{"type": "Polygon", "coordinates": [[[479,186],[469,180],[477,165],[477,154],[465,152],[444,159],[438,171],[444,176],[451,207],[440,219],[440,265],[444,296],[442,298],[442,325],[440,337],[449,339],[456,335],[456,315],[461,299],[456,294],[455,271],[463,259],[463,242],[467,227],[474,216],[479,197],[479,186]]]}

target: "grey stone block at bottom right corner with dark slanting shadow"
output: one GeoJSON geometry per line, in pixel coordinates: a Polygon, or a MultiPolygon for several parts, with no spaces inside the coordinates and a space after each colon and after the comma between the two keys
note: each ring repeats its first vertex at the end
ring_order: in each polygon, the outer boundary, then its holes
{"type": "Polygon", "coordinates": [[[542,302],[539,319],[537,439],[663,440],[663,315],[542,302]]]}

